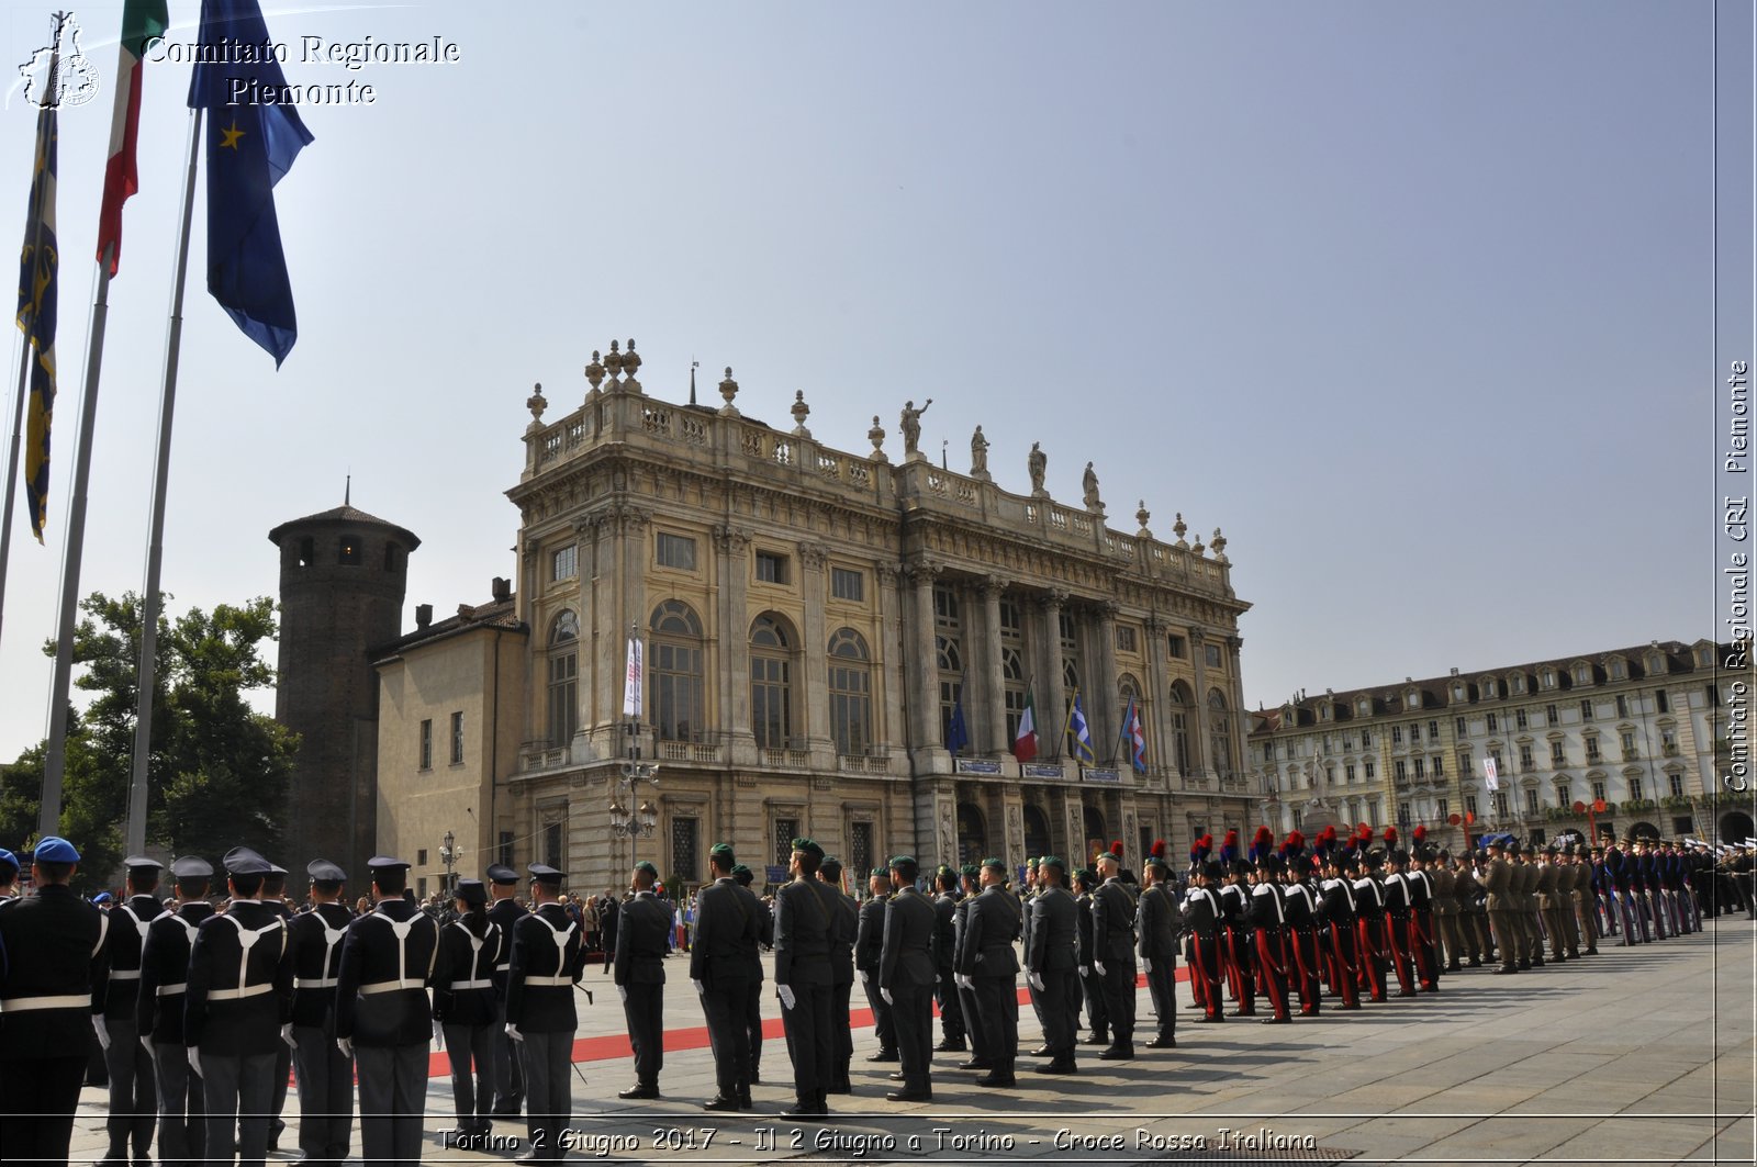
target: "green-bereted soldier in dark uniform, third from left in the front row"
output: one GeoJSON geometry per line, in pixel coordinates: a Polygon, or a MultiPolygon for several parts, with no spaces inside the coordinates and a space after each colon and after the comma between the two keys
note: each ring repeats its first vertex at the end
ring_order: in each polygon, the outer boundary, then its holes
{"type": "Polygon", "coordinates": [[[817,879],[824,849],[792,840],[792,882],[775,893],[775,995],[780,997],[794,1104],[785,1118],[829,1114],[835,1033],[829,1009],[829,939],[836,930],[836,891],[817,879]]]}

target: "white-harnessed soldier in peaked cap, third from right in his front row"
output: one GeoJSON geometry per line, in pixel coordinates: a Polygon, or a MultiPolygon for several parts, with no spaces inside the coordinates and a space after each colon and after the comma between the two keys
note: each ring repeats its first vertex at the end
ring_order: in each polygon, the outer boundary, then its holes
{"type": "Polygon", "coordinates": [[[409,903],[409,865],[365,863],[372,910],[348,924],[336,974],[336,1046],[360,1079],[360,1153],[367,1162],[418,1163],[432,1042],[439,921],[409,903]]]}

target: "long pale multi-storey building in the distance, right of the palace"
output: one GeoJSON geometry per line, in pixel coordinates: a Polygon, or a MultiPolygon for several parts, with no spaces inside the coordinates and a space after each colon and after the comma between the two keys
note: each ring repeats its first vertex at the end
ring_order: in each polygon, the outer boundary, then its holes
{"type": "Polygon", "coordinates": [[[1251,772],[1279,830],[1421,824],[1525,838],[1696,835],[1743,842],[1748,796],[1717,782],[1732,645],[1652,641],[1474,675],[1300,694],[1253,715],[1251,772]],[[1490,789],[1492,763],[1499,789],[1490,789]],[[1576,805],[1606,803],[1588,815],[1576,805]],[[1460,819],[1453,823],[1453,819],[1460,819]]]}

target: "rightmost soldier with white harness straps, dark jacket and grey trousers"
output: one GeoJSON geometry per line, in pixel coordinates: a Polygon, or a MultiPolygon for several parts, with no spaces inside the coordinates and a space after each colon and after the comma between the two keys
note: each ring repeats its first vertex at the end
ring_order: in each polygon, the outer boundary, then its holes
{"type": "MultiPolygon", "coordinates": [[[[524,1058],[525,1135],[531,1141],[517,1162],[559,1163],[566,1155],[560,1132],[573,1121],[568,1072],[573,1032],[580,1025],[573,986],[585,972],[585,937],[560,905],[564,875],[545,863],[532,863],[529,870],[534,910],[513,924],[506,968],[506,1035],[524,1058]]],[[[620,926],[617,947],[622,947],[620,926]]]]}

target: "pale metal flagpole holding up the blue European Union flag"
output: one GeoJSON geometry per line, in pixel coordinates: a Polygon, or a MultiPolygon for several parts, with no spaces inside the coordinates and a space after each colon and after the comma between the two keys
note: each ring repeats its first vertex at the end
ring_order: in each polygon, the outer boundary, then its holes
{"type": "Polygon", "coordinates": [[[158,573],[165,557],[165,489],[170,480],[170,420],[177,399],[177,355],[183,348],[183,283],[190,269],[190,221],[195,218],[195,148],[202,111],[190,111],[190,162],[183,179],[183,230],[170,285],[170,327],[165,330],[165,385],[158,406],[158,469],[153,480],[153,527],[146,543],[146,589],[141,594],[141,703],[134,719],[134,777],[128,784],[128,854],[146,849],[146,763],[153,747],[153,691],[158,687],[158,573]]]}

